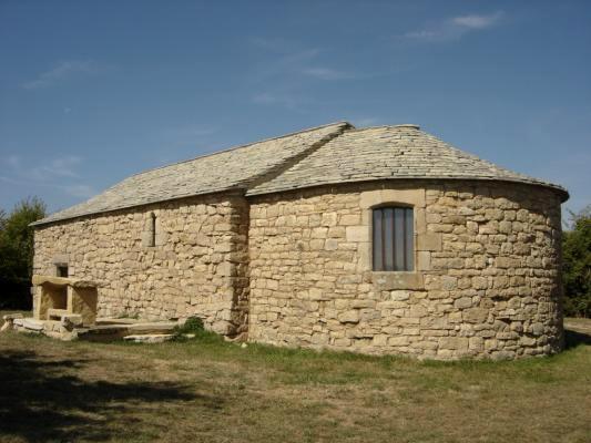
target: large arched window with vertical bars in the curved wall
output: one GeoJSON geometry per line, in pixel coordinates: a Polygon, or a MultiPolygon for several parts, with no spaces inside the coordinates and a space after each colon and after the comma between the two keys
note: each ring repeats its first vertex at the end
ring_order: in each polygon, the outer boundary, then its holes
{"type": "Polygon", "coordinates": [[[373,209],[374,270],[412,270],[415,262],[412,208],[373,209]]]}

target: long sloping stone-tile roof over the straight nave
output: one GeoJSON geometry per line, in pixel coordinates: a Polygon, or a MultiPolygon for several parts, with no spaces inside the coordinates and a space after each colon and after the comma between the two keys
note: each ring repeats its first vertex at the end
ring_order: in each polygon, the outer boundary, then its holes
{"type": "Polygon", "coordinates": [[[346,122],[328,124],[146,171],[33,225],[193,195],[244,189],[348,127],[351,126],[346,122]]]}

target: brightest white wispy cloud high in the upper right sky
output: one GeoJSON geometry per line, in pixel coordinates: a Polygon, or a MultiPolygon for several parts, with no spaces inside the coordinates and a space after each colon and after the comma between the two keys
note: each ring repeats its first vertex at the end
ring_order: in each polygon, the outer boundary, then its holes
{"type": "Polygon", "coordinates": [[[470,32],[493,28],[501,22],[502,18],[502,11],[491,14],[458,16],[431,23],[422,29],[407,32],[403,38],[406,40],[424,42],[458,40],[470,32]]]}

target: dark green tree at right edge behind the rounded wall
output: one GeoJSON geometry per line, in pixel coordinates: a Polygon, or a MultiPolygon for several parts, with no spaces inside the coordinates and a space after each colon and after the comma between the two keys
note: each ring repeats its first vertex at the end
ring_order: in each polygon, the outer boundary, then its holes
{"type": "Polygon", "coordinates": [[[571,213],[562,236],[564,313],[591,317],[591,205],[571,213]]]}

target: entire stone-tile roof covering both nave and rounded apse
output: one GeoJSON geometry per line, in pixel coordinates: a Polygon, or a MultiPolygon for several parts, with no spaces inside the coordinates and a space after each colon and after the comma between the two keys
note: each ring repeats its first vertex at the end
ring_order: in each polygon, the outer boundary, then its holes
{"type": "Polygon", "coordinates": [[[518,182],[553,188],[563,200],[569,197],[559,185],[480,159],[416,125],[355,128],[340,122],[133,175],[33,225],[228,189],[261,195],[399,178],[518,182]]]}

